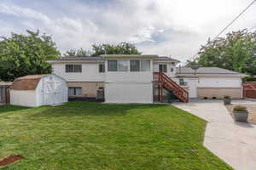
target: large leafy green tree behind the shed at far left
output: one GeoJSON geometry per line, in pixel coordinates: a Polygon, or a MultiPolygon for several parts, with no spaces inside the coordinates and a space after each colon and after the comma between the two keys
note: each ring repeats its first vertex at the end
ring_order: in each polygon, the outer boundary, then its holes
{"type": "Polygon", "coordinates": [[[0,80],[13,81],[16,77],[50,73],[48,59],[60,57],[55,42],[39,31],[26,31],[27,35],[12,33],[1,37],[0,80]]]}

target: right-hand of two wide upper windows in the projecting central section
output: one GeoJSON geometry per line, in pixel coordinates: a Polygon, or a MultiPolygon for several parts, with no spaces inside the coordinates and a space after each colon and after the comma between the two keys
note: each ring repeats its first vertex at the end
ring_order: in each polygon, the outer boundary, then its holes
{"type": "Polygon", "coordinates": [[[150,71],[150,60],[131,60],[130,71],[150,71]]]}

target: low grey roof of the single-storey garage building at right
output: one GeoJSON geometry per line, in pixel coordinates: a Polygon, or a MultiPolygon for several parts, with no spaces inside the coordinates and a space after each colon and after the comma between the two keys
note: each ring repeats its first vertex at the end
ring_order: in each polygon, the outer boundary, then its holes
{"type": "Polygon", "coordinates": [[[229,71],[218,67],[200,67],[196,71],[190,67],[177,67],[177,75],[223,75],[232,77],[245,77],[246,75],[236,71],[229,71]],[[196,73],[196,74],[195,74],[196,73]]]}

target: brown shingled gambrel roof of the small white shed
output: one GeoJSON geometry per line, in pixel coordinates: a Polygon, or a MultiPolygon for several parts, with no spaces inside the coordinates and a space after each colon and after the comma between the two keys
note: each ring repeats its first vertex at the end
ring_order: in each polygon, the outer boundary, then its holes
{"type": "Polygon", "coordinates": [[[38,87],[38,82],[42,77],[47,77],[50,74],[43,75],[28,75],[26,77],[18,77],[13,82],[10,89],[13,90],[35,90],[38,87]]]}

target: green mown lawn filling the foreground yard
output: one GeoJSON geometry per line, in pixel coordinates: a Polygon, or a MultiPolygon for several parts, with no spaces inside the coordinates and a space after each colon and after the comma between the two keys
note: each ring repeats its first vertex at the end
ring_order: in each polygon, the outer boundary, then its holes
{"type": "Polygon", "coordinates": [[[170,105],[0,106],[0,169],[231,169],[203,147],[206,122],[170,105]]]}

